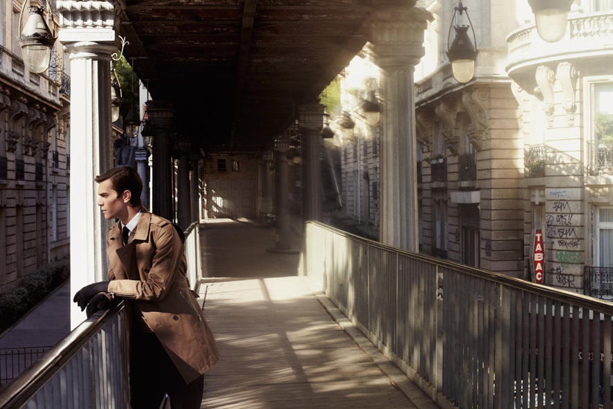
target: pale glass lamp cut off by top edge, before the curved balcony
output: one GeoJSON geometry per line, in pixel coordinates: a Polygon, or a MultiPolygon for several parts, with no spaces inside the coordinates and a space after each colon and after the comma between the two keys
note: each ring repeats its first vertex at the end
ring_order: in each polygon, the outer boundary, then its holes
{"type": "Polygon", "coordinates": [[[539,37],[549,43],[560,41],[566,34],[573,0],[528,0],[528,4],[534,13],[539,37]]]}

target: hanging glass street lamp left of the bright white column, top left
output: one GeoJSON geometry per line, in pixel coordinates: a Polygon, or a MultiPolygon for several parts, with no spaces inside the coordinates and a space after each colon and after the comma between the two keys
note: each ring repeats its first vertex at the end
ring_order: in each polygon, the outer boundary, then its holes
{"type": "MultiPolygon", "coordinates": [[[[48,12],[51,15],[51,6],[47,2],[48,12]]],[[[30,6],[30,18],[21,31],[21,17],[24,14],[26,2],[19,14],[19,46],[24,57],[24,65],[31,73],[44,73],[51,62],[51,48],[55,44],[55,35],[51,33],[49,26],[43,17],[44,8],[30,6]]]]}

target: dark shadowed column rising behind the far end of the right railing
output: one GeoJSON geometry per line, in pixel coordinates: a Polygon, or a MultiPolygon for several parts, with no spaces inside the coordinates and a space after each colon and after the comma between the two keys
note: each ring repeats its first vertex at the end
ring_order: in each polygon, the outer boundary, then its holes
{"type": "Polygon", "coordinates": [[[324,126],[324,106],[322,104],[302,105],[300,110],[300,131],[304,140],[304,208],[306,220],[322,219],[322,170],[320,131],[324,126]]]}

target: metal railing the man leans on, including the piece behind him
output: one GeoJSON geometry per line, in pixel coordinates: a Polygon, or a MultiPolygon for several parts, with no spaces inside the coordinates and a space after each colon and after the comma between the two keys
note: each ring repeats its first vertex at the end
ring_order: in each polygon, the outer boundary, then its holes
{"type": "MultiPolygon", "coordinates": [[[[199,224],[185,230],[187,277],[201,278],[199,224]]],[[[98,311],[0,389],[0,409],[128,408],[124,303],[98,311]]]]}

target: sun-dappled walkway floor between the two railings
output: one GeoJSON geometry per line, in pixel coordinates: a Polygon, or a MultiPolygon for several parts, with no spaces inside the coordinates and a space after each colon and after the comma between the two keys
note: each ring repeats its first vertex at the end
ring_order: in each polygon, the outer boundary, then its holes
{"type": "Polygon", "coordinates": [[[208,281],[205,313],[221,360],[205,375],[202,408],[437,408],[320,302],[308,278],[208,281]]]}

